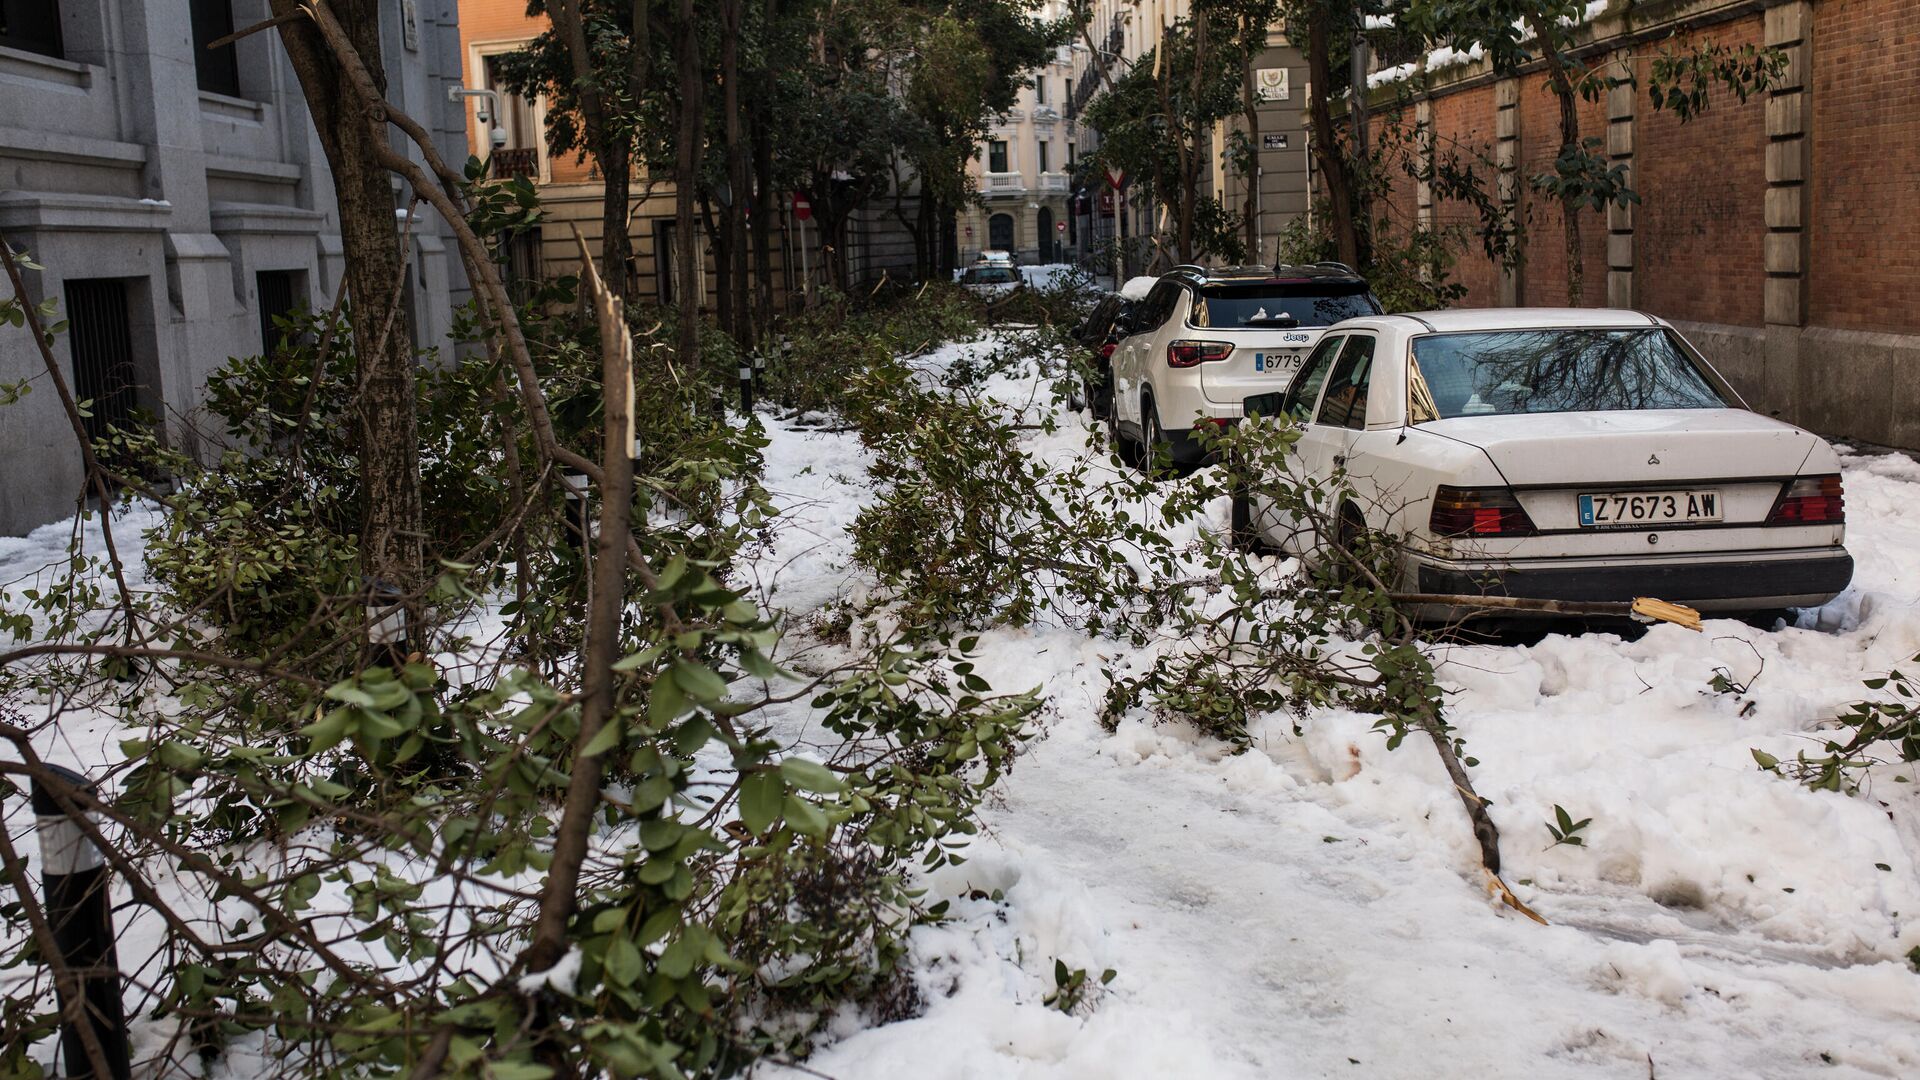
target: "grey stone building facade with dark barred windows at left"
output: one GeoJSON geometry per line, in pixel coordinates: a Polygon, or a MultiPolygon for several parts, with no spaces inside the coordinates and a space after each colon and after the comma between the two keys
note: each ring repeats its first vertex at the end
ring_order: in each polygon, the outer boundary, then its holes
{"type": "MultiPolygon", "coordinates": [[[[324,309],[342,275],[326,158],[276,35],[204,48],[267,17],[267,0],[8,0],[0,19],[0,234],[46,267],[31,300],[69,319],[56,354],[92,423],[150,415],[194,454],[211,452],[207,375],[263,352],[273,315],[324,309]]],[[[461,160],[455,0],[382,4],[382,52],[388,98],[461,160]]],[[[420,206],[407,298],[422,352],[465,302],[449,248],[420,206]]],[[[33,390],[0,407],[0,534],[73,513],[83,484],[36,348],[0,331],[0,382],[21,379],[33,390]]]]}

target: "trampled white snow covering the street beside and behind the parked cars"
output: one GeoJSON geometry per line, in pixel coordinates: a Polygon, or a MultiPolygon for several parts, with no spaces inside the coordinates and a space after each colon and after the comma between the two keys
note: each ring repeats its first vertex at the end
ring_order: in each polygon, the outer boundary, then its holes
{"type": "MultiPolygon", "coordinates": [[[[945,354],[970,348],[987,346],[945,354]]],[[[1081,425],[1035,446],[1085,454],[1081,425]]],[[[858,588],[843,525],[864,498],[860,450],[852,434],[772,438],[768,488],[791,500],[793,538],[770,555],[770,600],[808,611],[858,588]]],[[[1855,586],[1801,626],[1709,621],[1705,634],[1444,653],[1505,878],[1549,926],[1488,903],[1423,742],[1390,753],[1371,717],[1348,713],[1309,717],[1300,738],[1269,719],[1242,755],[1181,724],[1129,719],[1110,734],[1102,671],[1125,646],[987,634],[979,671],[1000,690],[1043,686],[1044,734],[987,815],[991,840],[933,882],[956,919],[916,942],[925,1013],[849,1022],[808,1068],[1920,1074],[1910,769],[1878,769],[1847,798],[1751,755],[1818,753],[1822,719],[1920,651],[1920,467],[1847,457],[1845,484],[1855,586]],[[1586,846],[1551,846],[1555,805],[1594,819],[1586,846]],[[1043,1005],[1056,959],[1117,976],[1062,1015],[1043,1005]]]]}

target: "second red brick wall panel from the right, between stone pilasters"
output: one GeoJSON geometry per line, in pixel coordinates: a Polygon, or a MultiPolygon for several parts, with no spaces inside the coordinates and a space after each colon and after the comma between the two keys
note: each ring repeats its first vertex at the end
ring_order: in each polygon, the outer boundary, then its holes
{"type": "MultiPolygon", "coordinates": [[[[1684,35],[1668,48],[1759,46],[1761,15],[1684,35]]],[[[1640,85],[1651,58],[1636,65],[1640,85]]],[[[1707,111],[1680,123],[1634,104],[1634,284],[1640,307],[1668,319],[1759,327],[1764,321],[1766,102],[1715,88],[1707,111]]]]}

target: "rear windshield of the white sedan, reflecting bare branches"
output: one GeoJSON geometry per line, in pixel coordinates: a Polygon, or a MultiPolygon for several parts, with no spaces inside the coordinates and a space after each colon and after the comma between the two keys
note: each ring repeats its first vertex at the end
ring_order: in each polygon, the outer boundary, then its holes
{"type": "Polygon", "coordinates": [[[1413,423],[1619,409],[1722,409],[1693,356],[1659,327],[1548,329],[1413,338],[1413,423]]]}

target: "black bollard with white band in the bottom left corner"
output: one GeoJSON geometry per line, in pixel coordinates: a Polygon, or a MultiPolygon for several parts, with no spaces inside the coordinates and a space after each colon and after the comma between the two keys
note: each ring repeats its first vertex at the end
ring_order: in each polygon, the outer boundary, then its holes
{"type": "MultiPolygon", "coordinates": [[[[86,776],[48,765],[61,780],[90,790],[86,776]]],[[[40,832],[40,888],[46,894],[46,920],[54,930],[60,961],[81,982],[81,1019],[65,1020],[69,990],[60,986],[60,1049],[67,1076],[94,1078],[86,1055],[83,1024],[92,1028],[113,1080],[127,1080],[132,1059],[127,1049],[127,1013],[121,1005],[119,955],[113,947],[113,903],[108,896],[108,867],[81,824],[60,809],[54,794],[35,776],[33,813],[40,832]]]]}

